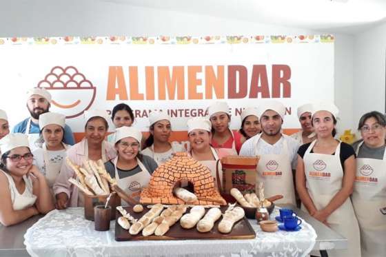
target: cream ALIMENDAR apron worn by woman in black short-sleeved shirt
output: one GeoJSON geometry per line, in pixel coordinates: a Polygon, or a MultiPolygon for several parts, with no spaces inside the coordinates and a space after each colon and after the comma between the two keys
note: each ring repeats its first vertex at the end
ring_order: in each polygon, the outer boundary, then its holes
{"type": "MultiPolygon", "coordinates": [[[[324,209],[332,198],[341,190],[343,168],[341,165],[341,143],[334,155],[310,153],[316,140],[307,148],[303,156],[305,166],[306,186],[316,209],[324,209]]],[[[328,218],[327,223],[334,231],[347,238],[348,249],[328,251],[328,256],[360,257],[360,236],[358,221],[350,198],[338,207],[328,218]]]]}

